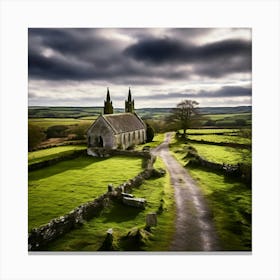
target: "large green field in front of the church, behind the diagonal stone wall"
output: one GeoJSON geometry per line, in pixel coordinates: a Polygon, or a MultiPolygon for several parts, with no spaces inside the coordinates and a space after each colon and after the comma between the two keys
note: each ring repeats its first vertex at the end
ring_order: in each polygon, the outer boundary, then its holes
{"type": "Polygon", "coordinates": [[[28,227],[38,227],[141,172],[142,159],[79,157],[28,174],[28,227]]]}

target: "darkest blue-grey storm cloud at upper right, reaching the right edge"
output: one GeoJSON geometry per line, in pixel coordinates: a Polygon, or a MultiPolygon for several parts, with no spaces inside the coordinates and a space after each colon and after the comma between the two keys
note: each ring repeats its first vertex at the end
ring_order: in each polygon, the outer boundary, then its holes
{"type": "Polygon", "coordinates": [[[154,38],[128,47],[125,54],[150,65],[190,64],[195,73],[205,76],[223,76],[251,69],[251,43],[245,40],[225,40],[196,46],[173,38],[154,38]]]}

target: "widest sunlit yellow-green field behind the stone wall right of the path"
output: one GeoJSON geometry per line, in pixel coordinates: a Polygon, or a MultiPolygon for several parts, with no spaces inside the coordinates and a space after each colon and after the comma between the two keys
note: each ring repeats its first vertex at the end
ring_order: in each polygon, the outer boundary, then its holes
{"type": "Polygon", "coordinates": [[[225,164],[237,164],[252,162],[252,152],[249,149],[237,149],[232,147],[191,143],[198,154],[208,161],[225,164]]]}

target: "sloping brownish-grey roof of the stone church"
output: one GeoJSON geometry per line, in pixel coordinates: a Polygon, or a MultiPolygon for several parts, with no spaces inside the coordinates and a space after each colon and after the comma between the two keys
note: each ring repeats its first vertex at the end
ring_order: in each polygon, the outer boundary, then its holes
{"type": "Polygon", "coordinates": [[[133,113],[109,114],[102,116],[116,134],[145,129],[142,119],[133,113]]]}

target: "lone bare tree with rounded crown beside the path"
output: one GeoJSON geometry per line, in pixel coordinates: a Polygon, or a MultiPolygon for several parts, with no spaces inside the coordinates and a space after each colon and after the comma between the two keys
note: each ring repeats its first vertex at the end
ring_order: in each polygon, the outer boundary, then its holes
{"type": "Polygon", "coordinates": [[[191,127],[198,116],[198,102],[194,100],[184,100],[177,104],[176,108],[172,109],[169,121],[176,124],[177,129],[183,129],[184,136],[187,129],[191,127]]]}

